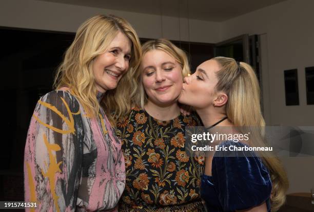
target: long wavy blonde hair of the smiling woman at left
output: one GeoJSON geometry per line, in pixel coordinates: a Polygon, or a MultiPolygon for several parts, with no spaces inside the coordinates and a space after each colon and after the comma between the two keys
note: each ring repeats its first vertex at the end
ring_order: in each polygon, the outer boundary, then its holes
{"type": "Polygon", "coordinates": [[[115,117],[130,110],[130,97],[137,90],[133,75],[141,56],[141,43],[129,22],[114,15],[96,15],[78,28],[74,41],[57,69],[54,88],[69,88],[91,117],[97,117],[102,106],[111,124],[114,124],[115,117]],[[115,89],[106,91],[100,104],[96,98],[93,60],[107,51],[109,44],[119,32],[125,34],[132,43],[129,69],[115,89]],[[112,111],[115,114],[112,114],[112,111]]]}

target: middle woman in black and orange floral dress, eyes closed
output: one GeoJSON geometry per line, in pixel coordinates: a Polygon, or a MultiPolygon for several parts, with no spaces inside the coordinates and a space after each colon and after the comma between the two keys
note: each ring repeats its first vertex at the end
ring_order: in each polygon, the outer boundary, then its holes
{"type": "Polygon", "coordinates": [[[136,79],[136,106],[117,123],[126,166],[126,190],[120,211],[204,211],[200,183],[204,157],[185,151],[185,127],[200,126],[195,114],[178,105],[186,54],[170,41],[143,45],[136,79]]]}

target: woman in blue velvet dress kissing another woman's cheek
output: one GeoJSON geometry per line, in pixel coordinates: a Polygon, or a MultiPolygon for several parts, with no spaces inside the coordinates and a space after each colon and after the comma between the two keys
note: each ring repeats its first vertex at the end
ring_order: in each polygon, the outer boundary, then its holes
{"type": "Polygon", "coordinates": [[[249,132],[241,141],[220,140],[217,146],[226,149],[206,157],[201,194],[208,211],[278,210],[288,187],[280,161],[265,152],[258,157],[242,151],[265,147],[259,83],[251,66],[215,57],[184,81],[179,102],[193,106],[208,130],[249,132]]]}

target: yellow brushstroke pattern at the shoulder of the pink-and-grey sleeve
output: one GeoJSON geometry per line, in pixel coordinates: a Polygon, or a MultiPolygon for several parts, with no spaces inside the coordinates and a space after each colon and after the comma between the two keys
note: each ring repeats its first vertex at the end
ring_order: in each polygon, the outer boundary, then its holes
{"type": "Polygon", "coordinates": [[[78,109],[77,112],[71,112],[69,105],[66,103],[66,101],[62,97],[61,97],[61,100],[63,101],[63,103],[64,103],[64,105],[68,111],[70,120],[68,120],[55,106],[53,106],[47,102],[43,102],[41,100],[39,100],[38,103],[40,103],[41,105],[47,107],[48,109],[52,110],[57,115],[59,115],[61,117],[61,119],[68,125],[68,130],[58,129],[58,128],[53,127],[49,124],[46,124],[46,123],[42,122],[36,115],[33,115],[33,117],[37,120],[37,122],[41,123],[42,125],[46,126],[47,128],[49,128],[55,132],[62,133],[62,134],[74,133],[75,129],[74,129],[73,114],[74,115],[80,114],[80,109],[78,109]]]}

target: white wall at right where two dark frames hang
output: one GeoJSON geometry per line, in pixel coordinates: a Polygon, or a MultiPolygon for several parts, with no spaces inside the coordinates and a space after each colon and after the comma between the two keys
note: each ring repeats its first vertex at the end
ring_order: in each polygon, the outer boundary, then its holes
{"type": "MultiPolygon", "coordinates": [[[[222,40],[241,34],[262,38],[263,97],[268,125],[314,126],[314,105],[306,105],[305,67],[314,66],[314,1],[291,0],[222,22],[222,40]],[[285,106],[284,73],[298,68],[298,106],[285,106]]],[[[314,140],[313,140],[314,142],[314,140]]],[[[282,158],[288,193],[310,192],[314,157],[282,158]]]]}

